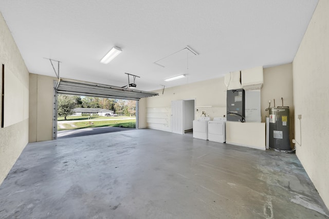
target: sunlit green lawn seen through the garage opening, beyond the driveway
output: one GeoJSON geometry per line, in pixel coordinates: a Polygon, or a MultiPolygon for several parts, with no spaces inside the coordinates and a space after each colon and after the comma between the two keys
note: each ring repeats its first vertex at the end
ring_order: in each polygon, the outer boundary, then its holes
{"type": "MultiPolygon", "coordinates": [[[[78,117],[78,116],[77,116],[78,117]]],[[[103,117],[102,118],[117,118],[117,117],[103,117]]],[[[95,118],[93,118],[95,119],[95,118]]],[[[100,118],[99,118],[100,119],[100,118]]],[[[84,129],[84,128],[95,128],[95,127],[123,127],[123,128],[136,128],[136,120],[109,120],[109,121],[90,121],[90,122],[74,122],[74,123],[58,123],[57,130],[70,130],[70,129],[84,129]]]]}

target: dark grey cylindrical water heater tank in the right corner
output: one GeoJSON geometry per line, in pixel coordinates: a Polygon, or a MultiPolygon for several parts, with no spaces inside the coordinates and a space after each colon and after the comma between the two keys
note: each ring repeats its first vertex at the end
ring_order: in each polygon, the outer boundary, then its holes
{"type": "Polygon", "coordinates": [[[269,147],[290,151],[289,107],[269,109],[269,147]]]}

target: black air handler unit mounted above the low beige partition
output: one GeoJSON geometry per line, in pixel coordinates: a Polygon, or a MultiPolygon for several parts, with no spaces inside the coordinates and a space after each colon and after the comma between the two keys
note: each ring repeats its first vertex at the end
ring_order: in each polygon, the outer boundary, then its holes
{"type": "Polygon", "coordinates": [[[227,121],[240,122],[245,118],[245,91],[234,89],[227,91],[227,121]],[[234,113],[234,114],[233,114],[234,113]]]}

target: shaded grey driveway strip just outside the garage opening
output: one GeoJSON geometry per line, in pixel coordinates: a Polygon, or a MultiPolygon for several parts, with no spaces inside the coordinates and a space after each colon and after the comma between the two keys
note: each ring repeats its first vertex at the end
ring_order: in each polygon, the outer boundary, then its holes
{"type": "Polygon", "coordinates": [[[78,137],[78,136],[103,134],[108,132],[127,131],[127,130],[134,130],[134,128],[120,128],[120,127],[109,126],[109,127],[98,127],[98,128],[63,130],[57,132],[57,138],[78,137]]]}

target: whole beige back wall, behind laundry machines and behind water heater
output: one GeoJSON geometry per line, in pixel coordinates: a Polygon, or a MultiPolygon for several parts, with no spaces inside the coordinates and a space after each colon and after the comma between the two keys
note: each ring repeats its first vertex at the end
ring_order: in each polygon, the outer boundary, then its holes
{"type": "MultiPolygon", "coordinates": [[[[276,106],[281,106],[281,97],[283,97],[284,105],[289,106],[291,111],[291,119],[294,114],[293,106],[293,65],[285,64],[276,67],[264,69],[264,85],[261,89],[261,115],[262,121],[265,122],[265,116],[268,116],[268,100],[276,99],[276,106]]],[[[214,78],[203,82],[166,88],[163,95],[148,97],[146,99],[145,111],[146,123],[149,128],[170,131],[170,107],[171,101],[179,99],[195,99],[195,106],[198,109],[195,112],[198,118],[202,111],[206,111],[211,117],[222,117],[226,115],[226,86],[224,77],[214,78]],[[211,107],[209,107],[211,106],[211,107]],[[165,113],[167,116],[159,123],[155,124],[155,116],[165,113]],[[168,121],[168,124],[162,124],[168,121]],[[154,123],[153,123],[154,122],[154,123]]],[[[161,90],[155,91],[161,93],[161,90]]],[[[159,116],[158,116],[159,117],[159,116]]],[[[293,121],[291,121],[293,122],[293,121]]],[[[290,137],[293,136],[293,126],[291,128],[290,137]]]]}

